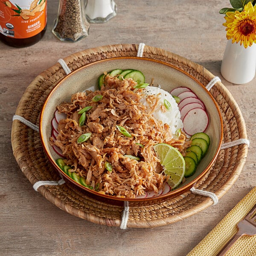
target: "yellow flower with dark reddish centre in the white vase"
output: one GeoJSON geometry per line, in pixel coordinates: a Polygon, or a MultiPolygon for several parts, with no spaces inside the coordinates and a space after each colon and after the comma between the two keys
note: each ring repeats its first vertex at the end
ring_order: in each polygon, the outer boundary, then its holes
{"type": "Polygon", "coordinates": [[[232,39],[232,43],[240,41],[244,48],[256,43],[256,6],[251,2],[244,6],[243,11],[227,12],[224,18],[228,40],[232,39]]]}

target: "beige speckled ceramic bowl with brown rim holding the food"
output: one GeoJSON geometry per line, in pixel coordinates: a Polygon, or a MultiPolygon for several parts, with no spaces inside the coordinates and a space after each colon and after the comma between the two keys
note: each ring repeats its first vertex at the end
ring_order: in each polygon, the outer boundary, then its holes
{"type": "Polygon", "coordinates": [[[201,179],[201,177],[203,177],[211,168],[220,150],[223,137],[221,113],[212,95],[199,81],[188,73],[185,73],[183,70],[170,64],[139,57],[108,58],[87,64],[67,75],[64,79],[58,82],[49,93],[41,111],[39,130],[41,142],[47,157],[65,181],[81,192],[90,195],[92,198],[96,198],[96,200],[116,205],[121,205],[124,201],[129,201],[134,205],[154,204],[188,191],[193,184],[201,179]],[[117,68],[140,70],[145,75],[146,82],[151,83],[153,79],[155,86],[160,85],[161,88],[166,91],[171,91],[173,88],[179,86],[189,87],[197,94],[198,98],[204,102],[209,115],[209,125],[205,132],[209,135],[211,144],[207,154],[198,165],[195,174],[186,178],[186,181],[183,184],[180,184],[172,191],[163,192],[161,195],[154,195],[146,198],[117,198],[115,196],[102,195],[91,189],[87,189],[71,179],[55,163],[55,160],[59,158],[59,156],[49,144],[49,138],[51,137],[52,130],[51,120],[54,116],[56,106],[61,102],[70,101],[71,95],[76,92],[83,91],[92,86],[95,86],[96,88],[97,79],[103,72],[108,72],[117,68]]]}

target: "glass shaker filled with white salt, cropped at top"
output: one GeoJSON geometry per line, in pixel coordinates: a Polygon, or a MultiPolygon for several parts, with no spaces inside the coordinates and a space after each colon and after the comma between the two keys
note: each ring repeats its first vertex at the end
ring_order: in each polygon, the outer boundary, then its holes
{"type": "Polygon", "coordinates": [[[85,0],[85,15],[90,23],[103,23],[116,16],[113,0],[85,0]]]}

